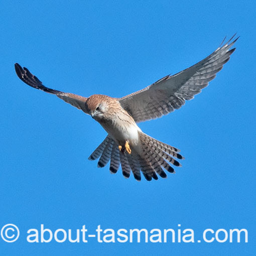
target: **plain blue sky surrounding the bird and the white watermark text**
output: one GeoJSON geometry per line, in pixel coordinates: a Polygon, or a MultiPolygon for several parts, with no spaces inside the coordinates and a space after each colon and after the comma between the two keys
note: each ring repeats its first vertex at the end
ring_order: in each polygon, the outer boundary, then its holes
{"type": "MultiPolygon", "coordinates": [[[[1,255],[253,255],[255,33],[253,1],[5,1],[1,5],[1,255]],[[230,61],[181,109],[141,123],[181,149],[182,168],[140,183],[88,156],[105,138],[82,111],[22,83],[19,62],[45,85],[120,97],[175,74],[240,36],[230,61]],[[27,230],[246,228],[248,243],[29,243],[27,230]]],[[[95,231],[94,231],[95,232],[95,231]]],[[[177,231],[178,232],[178,231],[177,231]]]]}

